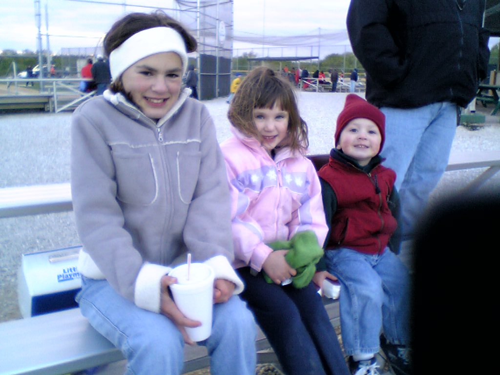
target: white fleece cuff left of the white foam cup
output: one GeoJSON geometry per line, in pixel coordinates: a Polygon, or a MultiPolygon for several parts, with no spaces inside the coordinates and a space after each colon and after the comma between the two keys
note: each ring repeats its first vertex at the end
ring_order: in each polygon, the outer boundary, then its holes
{"type": "Polygon", "coordinates": [[[160,312],[161,277],[170,272],[164,265],[144,263],[135,280],[134,302],[145,310],[160,312]]]}

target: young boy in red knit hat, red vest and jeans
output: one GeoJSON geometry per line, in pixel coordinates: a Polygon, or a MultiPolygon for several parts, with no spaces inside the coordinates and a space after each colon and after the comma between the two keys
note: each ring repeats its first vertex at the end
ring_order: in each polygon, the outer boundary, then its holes
{"type": "MultiPolygon", "coordinates": [[[[397,193],[394,171],[380,164],[384,125],[378,108],[347,95],[337,118],[335,148],[318,172],[329,226],[326,269],[340,280],[342,341],[356,375],[378,374],[374,354],[382,330],[392,369],[410,373],[409,275],[388,248],[397,227],[391,211],[396,211],[397,193]]],[[[398,247],[395,243],[393,249],[398,247]]]]}

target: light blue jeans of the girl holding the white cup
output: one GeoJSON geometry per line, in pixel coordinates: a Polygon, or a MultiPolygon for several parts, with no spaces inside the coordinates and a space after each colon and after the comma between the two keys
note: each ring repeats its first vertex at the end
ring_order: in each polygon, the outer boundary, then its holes
{"type": "MultiPolygon", "coordinates": [[[[76,300],[81,313],[127,360],[126,374],[182,373],[182,334],[166,316],[144,310],[114,291],[106,280],[82,277],[76,300]]],[[[206,346],[212,374],[255,373],[256,329],[251,312],[238,296],[213,305],[206,346]]]]}

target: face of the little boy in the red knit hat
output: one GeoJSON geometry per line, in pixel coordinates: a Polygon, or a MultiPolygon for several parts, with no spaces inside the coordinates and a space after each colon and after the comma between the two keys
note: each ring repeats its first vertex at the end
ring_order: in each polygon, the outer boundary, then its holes
{"type": "Polygon", "coordinates": [[[378,154],[381,140],[375,122],[367,118],[354,118],[340,132],[337,148],[364,166],[378,154]]]}

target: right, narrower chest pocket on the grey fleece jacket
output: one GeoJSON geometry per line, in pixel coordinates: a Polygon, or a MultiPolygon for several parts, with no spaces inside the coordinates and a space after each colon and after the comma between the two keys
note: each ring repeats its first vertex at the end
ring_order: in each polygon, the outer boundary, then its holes
{"type": "Polygon", "coordinates": [[[198,183],[201,152],[177,152],[177,181],[180,200],[189,204],[198,183]]]}

